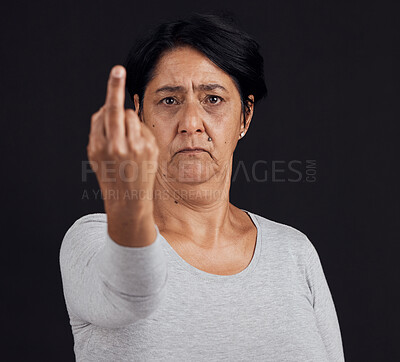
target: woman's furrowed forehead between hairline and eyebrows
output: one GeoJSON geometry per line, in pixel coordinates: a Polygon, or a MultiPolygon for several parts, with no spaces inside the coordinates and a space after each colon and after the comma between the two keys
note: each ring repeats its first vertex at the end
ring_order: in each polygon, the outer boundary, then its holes
{"type": "Polygon", "coordinates": [[[196,86],[218,83],[228,91],[237,91],[233,79],[202,52],[189,46],[167,51],[158,61],[147,88],[160,85],[196,86]]]}

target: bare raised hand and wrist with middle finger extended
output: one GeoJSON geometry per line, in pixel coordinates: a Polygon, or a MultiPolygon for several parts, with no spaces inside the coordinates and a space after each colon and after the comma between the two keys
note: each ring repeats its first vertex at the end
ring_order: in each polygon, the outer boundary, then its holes
{"type": "Polygon", "coordinates": [[[138,110],[124,108],[125,78],[124,67],[113,67],[105,104],[91,118],[87,153],[110,237],[124,246],[145,246],[156,236],[152,197],[159,150],[138,110]]]}

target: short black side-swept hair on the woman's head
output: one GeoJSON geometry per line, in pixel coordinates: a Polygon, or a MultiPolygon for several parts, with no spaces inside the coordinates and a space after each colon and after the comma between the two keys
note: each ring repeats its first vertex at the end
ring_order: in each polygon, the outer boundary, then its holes
{"type": "Polygon", "coordinates": [[[236,84],[243,115],[252,103],[267,95],[264,80],[264,60],[259,44],[239,30],[231,16],[194,13],[189,18],[160,24],[144,38],[137,39],[125,60],[126,87],[133,101],[139,95],[139,111],[148,82],[164,52],[180,46],[190,46],[207,56],[229,74],[236,84]]]}

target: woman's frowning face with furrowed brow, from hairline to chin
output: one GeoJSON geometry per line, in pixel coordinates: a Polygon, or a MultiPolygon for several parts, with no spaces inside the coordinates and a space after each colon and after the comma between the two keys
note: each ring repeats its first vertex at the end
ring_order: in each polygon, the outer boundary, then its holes
{"type": "MultiPolygon", "coordinates": [[[[251,116],[252,111],[247,127],[251,116]]],[[[230,172],[240,133],[247,131],[235,83],[191,47],[161,57],[145,90],[141,119],[157,139],[163,179],[180,183],[203,183],[230,172]]]]}

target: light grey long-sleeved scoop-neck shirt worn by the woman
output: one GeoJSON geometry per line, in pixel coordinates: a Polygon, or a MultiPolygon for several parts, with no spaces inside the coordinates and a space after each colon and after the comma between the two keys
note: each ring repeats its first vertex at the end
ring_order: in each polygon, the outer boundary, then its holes
{"type": "Polygon", "coordinates": [[[153,244],[131,248],[110,238],[106,214],[78,219],[60,250],[76,360],[344,361],[314,246],[302,232],[246,212],[257,241],[234,275],[190,265],[156,225],[153,244]]]}

